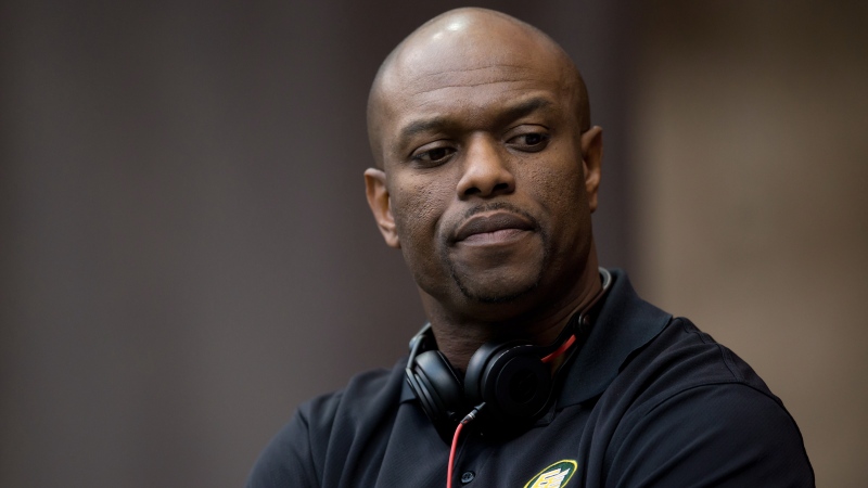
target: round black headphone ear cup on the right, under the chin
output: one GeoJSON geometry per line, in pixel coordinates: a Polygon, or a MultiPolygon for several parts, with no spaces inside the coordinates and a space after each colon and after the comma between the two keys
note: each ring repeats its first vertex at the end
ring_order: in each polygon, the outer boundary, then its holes
{"type": "Polygon", "coordinates": [[[549,404],[551,369],[540,360],[538,347],[523,343],[486,344],[471,358],[464,393],[473,404],[501,422],[528,422],[549,404]]]}

